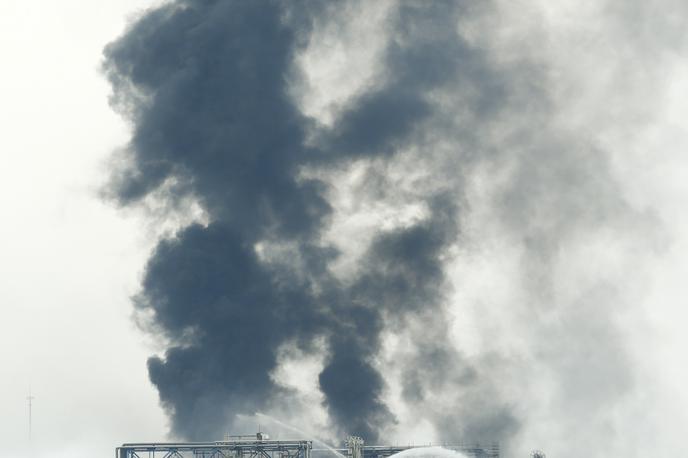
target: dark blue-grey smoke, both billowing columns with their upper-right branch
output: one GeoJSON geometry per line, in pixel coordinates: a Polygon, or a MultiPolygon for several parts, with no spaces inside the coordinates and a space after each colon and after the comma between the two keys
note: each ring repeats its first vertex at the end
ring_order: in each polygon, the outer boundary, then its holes
{"type": "MultiPolygon", "coordinates": [[[[428,14],[452,10],[404,8],[398,23],[424,27],[428,14]]],[[[273,2],[174,2],[107,48],[114,103],[135,127],[115,194],[127,205],[161,188],[171,201],[191,195],[210,220],[161,241],[148,263],[137,307],[152,310],[172,342],[149,372],[174,432],[207,438],[280,394],[270,372],[281,345],[307,348],[325,336],[327,408],[343,433],[375,441],[393,421],[373,366],[382,313],[435,306],[453,209],[434,199],[430,221],[378,236],[359,279],[345,286],[328,272],[336,252],[320,240],[326,184],[297,173],[309,163],[393,154],[431,112],[425,92],[448,77],[446,56],[424,52],[439,49],[436,37],[401,30],[410,43],[387,53],[394,77],[309,147],[312,123],[286,87],[309,22],[287,22],[286,13],[273,2]],[[287,259],[262,262],[262,241],[295,246],[299,275],[287,259]]]]}

